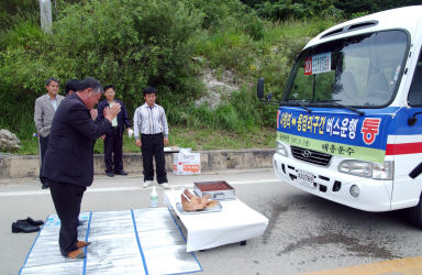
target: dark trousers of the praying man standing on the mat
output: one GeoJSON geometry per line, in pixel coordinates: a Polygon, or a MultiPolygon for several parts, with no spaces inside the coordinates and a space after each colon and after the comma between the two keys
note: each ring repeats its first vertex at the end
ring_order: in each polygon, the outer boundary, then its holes
{"type": "Polygon", "coordinates": [[[58,244],[62,255],[66,256],[69,252],[78,250],[78,223],[80,204],[82,201],[85,186],[57,183],[48,180],[54,207],[60,219],[60,233],[58,244]]]}

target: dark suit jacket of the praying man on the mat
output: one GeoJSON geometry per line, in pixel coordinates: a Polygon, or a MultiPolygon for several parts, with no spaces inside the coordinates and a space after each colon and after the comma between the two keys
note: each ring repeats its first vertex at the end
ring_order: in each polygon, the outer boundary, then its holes
{"type": "Polygon", "coordinates": [[[54,182],[90,186],[93,179],[93,143],[111,128],[95,122],[77,94],[58,106],[52,123],[43,175],[54,182]]]}

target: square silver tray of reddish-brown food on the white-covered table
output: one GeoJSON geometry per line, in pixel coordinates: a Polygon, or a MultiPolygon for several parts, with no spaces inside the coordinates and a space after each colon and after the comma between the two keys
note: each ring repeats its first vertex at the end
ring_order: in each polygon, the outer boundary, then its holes
{"type": "Polygon", "coordinates": [[[193,183],[193,193],[199,197],[210,196],[211,199],[235,199],[234,188],[225,180],[193,183]]]}

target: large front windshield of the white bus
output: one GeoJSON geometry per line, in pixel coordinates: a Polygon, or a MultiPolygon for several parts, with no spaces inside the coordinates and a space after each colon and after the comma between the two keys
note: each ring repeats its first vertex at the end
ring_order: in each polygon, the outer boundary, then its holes
{"type": "Polygon", "coordinates": [[[402,75],[407,47],[407,33],[395,30],[307,48],[295,64],[284,102],[384,107],[402,75]]]}

